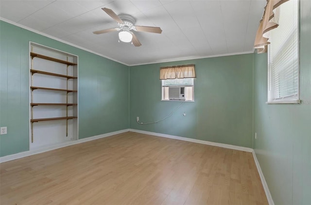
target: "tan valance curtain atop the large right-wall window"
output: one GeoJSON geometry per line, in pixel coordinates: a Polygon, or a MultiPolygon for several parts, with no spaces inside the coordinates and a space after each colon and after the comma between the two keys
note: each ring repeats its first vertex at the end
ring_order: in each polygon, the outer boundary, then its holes
{"type": "Polygon", "coordinates": [[[269,31],[278,26],[279,8],[278,6],[288,0],[267,0],[267,5],[264,8],[264,13],[257,30],[254,48],[257,48],[258,53],[267,52],[267,46],[270,44],[269,31]]]}

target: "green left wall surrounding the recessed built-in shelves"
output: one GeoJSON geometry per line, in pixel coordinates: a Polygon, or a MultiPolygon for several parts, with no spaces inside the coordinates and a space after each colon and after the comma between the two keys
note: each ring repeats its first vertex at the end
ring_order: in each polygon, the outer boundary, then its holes
{"type": "Polygon", "coordinates": [[[79,56],[79,139],[128,128],[128,66],[0,21],[0,156],[29,150],[29,41],[79,56]]]}

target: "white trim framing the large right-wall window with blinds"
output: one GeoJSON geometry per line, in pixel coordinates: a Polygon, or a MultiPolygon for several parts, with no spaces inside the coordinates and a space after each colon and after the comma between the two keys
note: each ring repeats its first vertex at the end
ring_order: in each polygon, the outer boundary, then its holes
{"type": "MultiPolygon", "coordinates": [[[[286,97],[282,97],[279,99],[274,99],[269,101],[269,91],[270,91],[270,87],[271,87],[271,80],[270,80],[270,70],[271,70],[271,66],[270,66],[270,46],[268,45],[268,78],[267,78],[267,82],[268,82],[268,89],[267,89],[267,102],[266,104],[300,104],[301,100],[300,100],[300,0],[297,0],[297,4],[298,4],[298,66],[297,66],[297,72],[298,72],[298,79],[297,79],[297,83],[298,83],[298,87],[297,87],[297,99],[288,99],[286,100],[286,97]]],[[[291,95],[292,96],[292,95],[291,95]]],[[[287,96],[289,97],[289,96],[287,96]]]]}

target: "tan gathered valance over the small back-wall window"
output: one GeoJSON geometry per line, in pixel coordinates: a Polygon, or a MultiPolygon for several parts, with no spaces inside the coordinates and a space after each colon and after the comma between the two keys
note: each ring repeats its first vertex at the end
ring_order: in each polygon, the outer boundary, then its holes
{"type": "Polygon", "coordinates": [[[196,78],[194,64],[160,68],[160,79],[196,78]]]}

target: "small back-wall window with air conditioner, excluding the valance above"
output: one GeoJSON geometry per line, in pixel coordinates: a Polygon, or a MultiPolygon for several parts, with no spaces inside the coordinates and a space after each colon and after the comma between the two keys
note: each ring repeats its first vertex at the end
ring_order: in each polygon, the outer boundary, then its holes
{"type": "Polygon", "coordinates": [[[162,80],[162,100],[193,101],[194,79],[162,80]]]}

